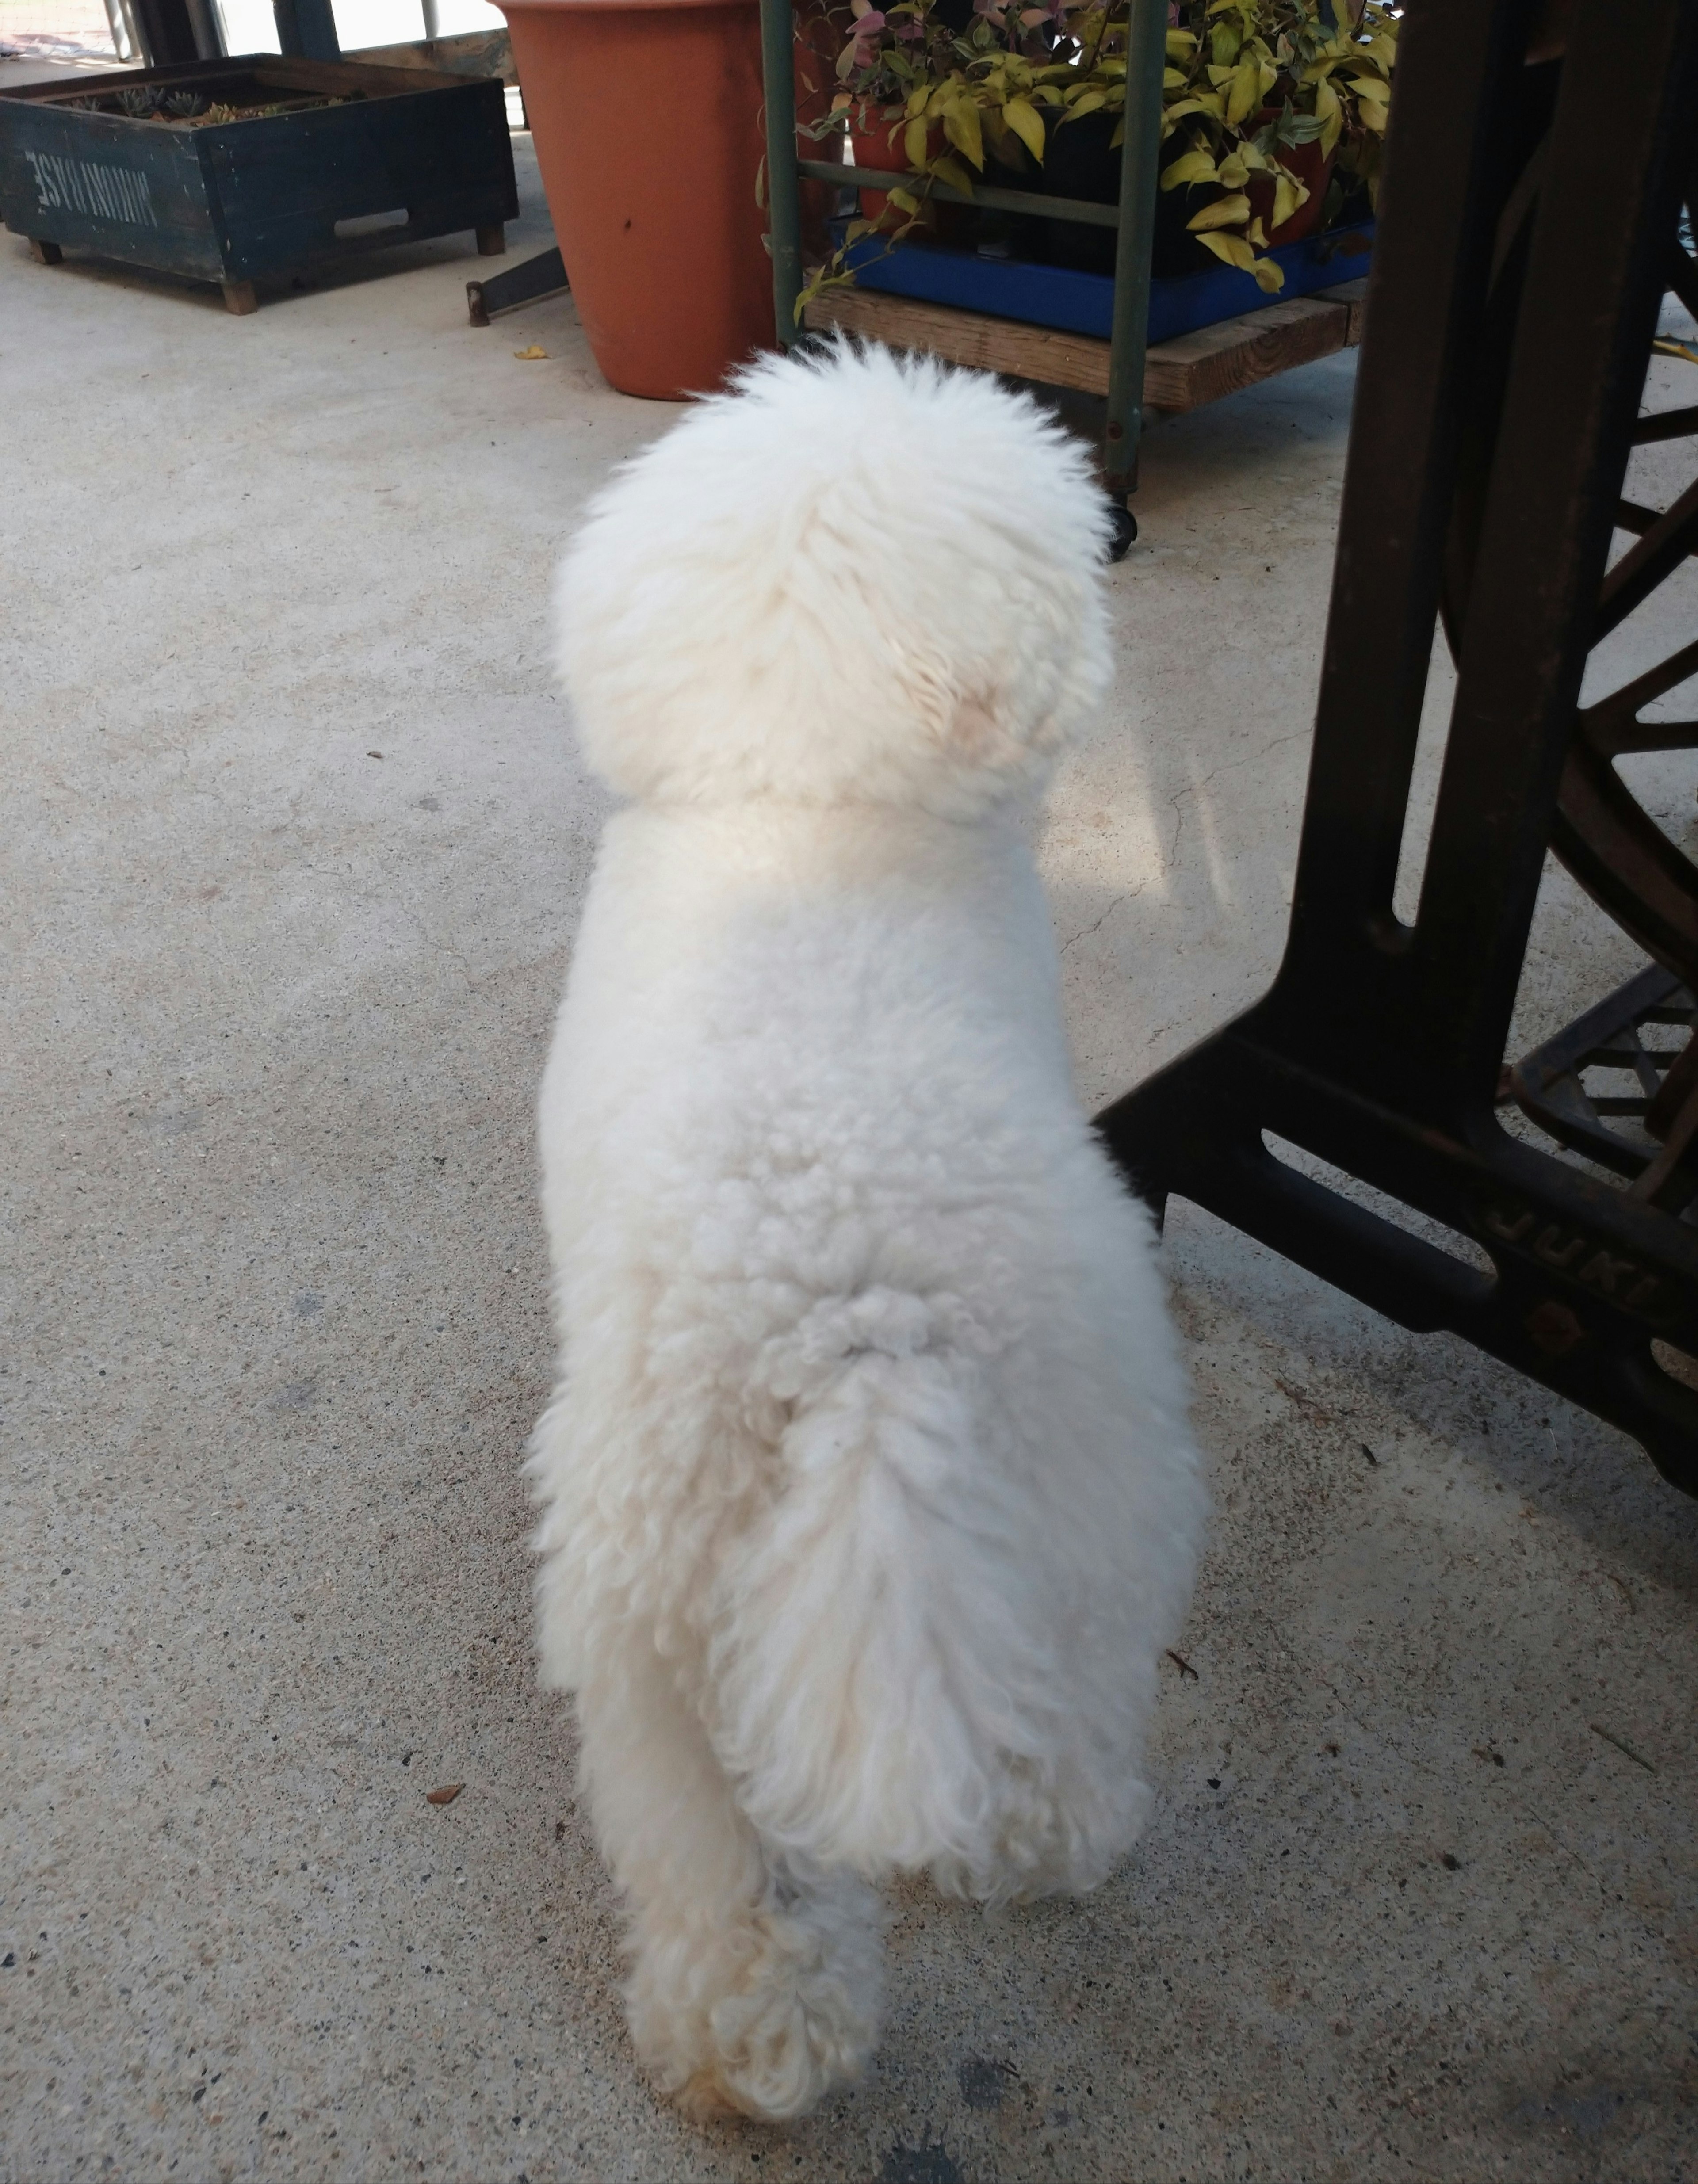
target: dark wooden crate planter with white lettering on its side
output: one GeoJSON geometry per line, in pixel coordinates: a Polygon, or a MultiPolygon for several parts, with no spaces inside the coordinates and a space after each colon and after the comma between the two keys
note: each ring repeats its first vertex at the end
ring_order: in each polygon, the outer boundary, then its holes
{"type": "Polygon", "coordinates": [[[39,256],[101,258],[251,284],[518,214],[500,83],[275,55],[55,79],[0,96],[0,218],[39,256]],[[350,96],[194,129],[85,111],[79,98],[168,85],[225,103],[350,96]]]}

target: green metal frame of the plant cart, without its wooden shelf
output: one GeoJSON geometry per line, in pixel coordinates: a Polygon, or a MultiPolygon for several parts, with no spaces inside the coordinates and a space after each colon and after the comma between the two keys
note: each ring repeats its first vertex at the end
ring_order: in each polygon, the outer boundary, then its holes
{"type": "MultiPolygon", "coordinates": [[[[771,249],[771,304],[782,347],[802,339],[795,299],[802,295],[802,179],[894,190],[913,175],[883,168],[844,168],[828,159],[795,157],[795,22],[793,0],[760,0],[760,61],[767,79],[767,207],[771,249]]],[[[1119,229],[1115,240],[1115,312],[1108,341],[1108,424],[1104,428],[1104,485],[1125,500],[1139,483],[1143,437],[1143,352],[1149,328],[1149,253],[1156,229],[1156,164],[1160,153],[1160,83],[1167,66],[1167,0],[1130,0],[1125,66],[1125,144],[1119,205],[1090,205],[1036,190],[975,188],[972,197],[933,183],[931,194],[957,205],[999,212],[1036,212],[1049,221],[1082,221],[1119,229]]]]}

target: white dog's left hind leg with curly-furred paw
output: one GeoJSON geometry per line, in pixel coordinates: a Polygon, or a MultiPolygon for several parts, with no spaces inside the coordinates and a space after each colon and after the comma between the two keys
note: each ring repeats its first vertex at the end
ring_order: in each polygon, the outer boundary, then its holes
{"type": "Polygon", "coordinates": [[[632,2038],[695,2116],[806,2114],[879,2031],[872,1891],[771,1856],[647,1631],[579,1688],[581,1778],[625,1894],[632,2038]]]}

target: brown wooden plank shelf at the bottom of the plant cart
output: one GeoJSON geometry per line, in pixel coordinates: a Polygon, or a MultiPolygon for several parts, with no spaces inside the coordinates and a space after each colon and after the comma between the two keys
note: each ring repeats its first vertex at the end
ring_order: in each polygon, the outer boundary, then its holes
{"type": "MultiPolygon", "coordinates": [[[[1346,290],[1357,286],[1366,288],[1366,282],[1346,282],[1346,290]]],[[[1163,341],[1145,356],[1145,406],[1169,413],[1200,408],[1318,356],[1333,356],[1357,339],[1359,319],[1359,299],[1300,295],[1180,334],[1178,341],[1163,341]]],[[[931,349],[953,365],[1003,371],[1047,387],[1077,387],[1090,395],[1108,393],[1108,343],[1090,334],[1060,334],[1047,325],[879,295],[872,288],[828,288],[809,306],[806,325],[841,325],[894,349],[931,349]]]]}

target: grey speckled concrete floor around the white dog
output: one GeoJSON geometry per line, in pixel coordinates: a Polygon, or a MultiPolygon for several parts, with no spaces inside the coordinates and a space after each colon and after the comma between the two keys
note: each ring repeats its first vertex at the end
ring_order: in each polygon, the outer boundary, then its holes
{"type": "MultiPolygon", "coordinates": [[[[601,819],[544,598],[669,411],[566,299],[470,332],[461,245],[391,264],[229,319],[0,236],[0,2171],[1691,2177],[1698,1509],[1184,1208],[1219,1514],[1145,1843],[905,1894],[809,2125],[656,2105],[518,1459],[601,819]]],[[[1149,441],[1045,850],[1090,1101],[1276,961],[1353,369],[1149,441]]],[[[1628,968],[1552,882],[1530,1035],[1628,968]]]]}

